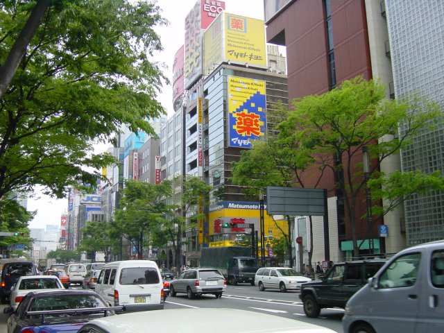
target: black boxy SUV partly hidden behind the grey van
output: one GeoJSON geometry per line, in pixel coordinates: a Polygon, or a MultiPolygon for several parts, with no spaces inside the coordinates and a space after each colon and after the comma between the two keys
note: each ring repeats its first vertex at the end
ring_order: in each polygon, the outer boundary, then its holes
{"type": "Polygon", "coordinates": [[[322,280],[302,284],[299,298],[304,303],[305,314],[316,318],[322,308],[344,308],[348,299],[385,263],[385,259],[368,259],[334,264],[322,280]]]}

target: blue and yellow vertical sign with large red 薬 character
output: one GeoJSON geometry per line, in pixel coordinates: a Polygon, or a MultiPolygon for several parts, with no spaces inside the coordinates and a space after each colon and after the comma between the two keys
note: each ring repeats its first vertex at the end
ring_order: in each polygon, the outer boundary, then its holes
{"type": "Polygon", "coordinates": [[[266,133],[265,81],[228,76],[228,145],[252,148],[266,133]]]}

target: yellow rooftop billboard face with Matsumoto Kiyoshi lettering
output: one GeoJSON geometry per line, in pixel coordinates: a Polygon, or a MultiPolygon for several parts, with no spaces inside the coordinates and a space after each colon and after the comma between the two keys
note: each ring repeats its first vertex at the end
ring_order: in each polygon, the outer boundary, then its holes
{"type": "Polygon", "coordinates": [[[262,19],[225,13],[225,60],[266,67],[262,19]]]}

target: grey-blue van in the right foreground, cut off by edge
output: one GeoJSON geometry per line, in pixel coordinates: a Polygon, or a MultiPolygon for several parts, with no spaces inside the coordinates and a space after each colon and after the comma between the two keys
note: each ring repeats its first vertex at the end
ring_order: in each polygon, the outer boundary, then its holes
{"type": "Polygon", "coordinates": [[[444,240],[392,257],[345,306],[344,333],[443,332],[444,240]]]}

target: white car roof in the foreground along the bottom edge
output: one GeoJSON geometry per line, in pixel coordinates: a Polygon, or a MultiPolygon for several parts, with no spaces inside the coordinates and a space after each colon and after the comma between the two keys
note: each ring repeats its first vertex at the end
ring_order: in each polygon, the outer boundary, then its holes
{"type": "Polygon", "coordinates": [[[330,328],[239,309],[167,309],[93,319],[77,333],[334,333],[330,328]],[[221,319],[223,325],[221,325],[221,319]]]}

